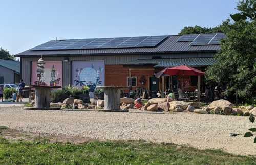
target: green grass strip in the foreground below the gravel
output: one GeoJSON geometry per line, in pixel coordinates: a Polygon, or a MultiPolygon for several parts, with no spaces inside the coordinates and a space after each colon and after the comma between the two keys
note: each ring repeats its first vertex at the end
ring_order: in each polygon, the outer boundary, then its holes
{"type": "Polygon", "coordinates": [[[63,144],[1,138],[0,164],[256,164],[256,159],[174,144],[97,141],[63,144]]]}

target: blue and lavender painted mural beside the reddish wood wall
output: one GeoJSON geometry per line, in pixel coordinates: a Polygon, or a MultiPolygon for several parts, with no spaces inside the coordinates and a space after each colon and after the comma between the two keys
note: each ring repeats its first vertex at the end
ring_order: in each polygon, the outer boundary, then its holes
{"type": "Polygon", "coordinates": [[[96,86],[104,86],[104,61],[72,61],[72,85],[89,86],[90,92],[94,92],[96,86]]]}

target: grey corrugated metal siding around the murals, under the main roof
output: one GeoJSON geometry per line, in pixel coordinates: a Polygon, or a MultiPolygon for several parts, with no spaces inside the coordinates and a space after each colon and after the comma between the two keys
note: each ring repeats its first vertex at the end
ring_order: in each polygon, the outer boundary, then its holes
{"type": "MultiPolygon", "coordinates": [[[[71,81],[71,61],[91,61],[104,60],[105,65],[122,65],[124,63],[138,59],[152,58],[160,56],[162,58],[192,58],[192,57],[212,57],[214,53],[187,53],[187,54],[155,54],[155,55],[104,55],[104,56],[69,56],[70,62],[63,62],[63,85],[69,85],[71,81]]],[[[63,61],[64,57],[43,57],[45,61],[63,61]]],[[[30,84],[31,61],[37,61],[38,57],[22,57],[22,79],[26,84],[30,84]]]]}

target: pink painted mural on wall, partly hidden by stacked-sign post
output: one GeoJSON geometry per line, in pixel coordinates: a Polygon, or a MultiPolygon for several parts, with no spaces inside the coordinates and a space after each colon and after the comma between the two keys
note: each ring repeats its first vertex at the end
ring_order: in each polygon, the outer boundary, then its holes
{"type": "MultiPolygon", "coordinates": [[[[31,84],[37,84],[37,62],[32,62],[31,70],[31,84]]],[[[44,74],[42,76],[42,82],[45,85],[62,86],[62,61],[45,61],[44,74]]]]}

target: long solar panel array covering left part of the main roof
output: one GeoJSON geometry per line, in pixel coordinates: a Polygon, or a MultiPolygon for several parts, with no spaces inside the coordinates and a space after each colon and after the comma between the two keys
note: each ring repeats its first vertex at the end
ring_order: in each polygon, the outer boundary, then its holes
{"type": "Polygon", "coordinates": [[[92,38],[49,41],[32,50],[73,50],[73,49],[104,49],[104,48],[140,48],[154,47],[167,36],[92,38]]]}

